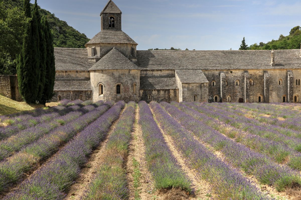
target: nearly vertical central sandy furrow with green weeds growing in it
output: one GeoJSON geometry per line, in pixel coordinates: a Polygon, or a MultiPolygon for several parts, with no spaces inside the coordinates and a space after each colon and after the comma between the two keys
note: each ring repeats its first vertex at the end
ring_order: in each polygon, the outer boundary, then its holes
{"type": "Polygon", "coordinates": [[[135,158],[138,163],[140,164],[140,172],[141,172],[141,179],[140,179],[140,186],[138,187],[139,195],[141,200],[148,200],[153,199],[154,196],[157,199],[162,199],[162,196],[155,191],[153,180],[151,173],[147,169],[146,160],[145,160],[145,146],[142,137],[142,130],[139,124],[139,107],[136,109],[135,115],[135,123],[134,129],[132,132],[132,141],[129,145],[129,156],[126,162],[126,170],[127,170],[127,179],[129,183],[129,199],[135,199],[135,188],[134,188],[134,166],[133,166],[133,158],[135,158]]]}

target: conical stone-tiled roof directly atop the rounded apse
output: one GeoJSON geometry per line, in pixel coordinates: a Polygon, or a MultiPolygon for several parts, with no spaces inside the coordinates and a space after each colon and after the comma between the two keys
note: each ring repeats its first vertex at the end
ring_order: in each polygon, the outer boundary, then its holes
{"type": "Polygon", "coordinates": [[[138,69],[137,65],[132,63],[115,47],[102,57],[90,70],[132,70],[138,69]]]}

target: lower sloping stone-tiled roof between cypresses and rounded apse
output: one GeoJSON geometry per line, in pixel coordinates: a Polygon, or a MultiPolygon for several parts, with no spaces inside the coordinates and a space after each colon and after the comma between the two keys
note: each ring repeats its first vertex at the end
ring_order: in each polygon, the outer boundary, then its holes
{"type": "Polygon", "coordinates": [[[90,91],[90,79],[55,79],[54,91],[90,91]]]}

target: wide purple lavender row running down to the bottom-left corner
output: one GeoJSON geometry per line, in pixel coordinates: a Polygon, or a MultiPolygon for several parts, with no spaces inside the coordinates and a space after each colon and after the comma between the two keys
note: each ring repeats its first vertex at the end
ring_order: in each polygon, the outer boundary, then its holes
{"type": "MultiPolygon", "coordinates": [[[[104,115],[87,126],[75,139],[71,140],[47,165],[24,181],[16,191],[4,199],[63,199],[66,191],[78,177],[81,167],[87,162],[88,155],[107,135],[125,103],[116,103],[104,115]]],[[[95,111],[91,116],[96,117],[95,111]]],[[[99,113],[99,112],[98,112],[99,113]]],[[[86,124],[87,125],[87,124],[86,124]]]]}

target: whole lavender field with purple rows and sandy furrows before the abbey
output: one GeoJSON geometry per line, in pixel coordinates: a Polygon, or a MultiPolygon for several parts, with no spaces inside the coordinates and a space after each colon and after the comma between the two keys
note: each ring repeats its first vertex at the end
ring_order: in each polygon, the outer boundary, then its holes
{"type": "Polygon", "coordinates": [[[0,198],[300,200],[301,106],[93,103],[0,116],[0,198]]]}

